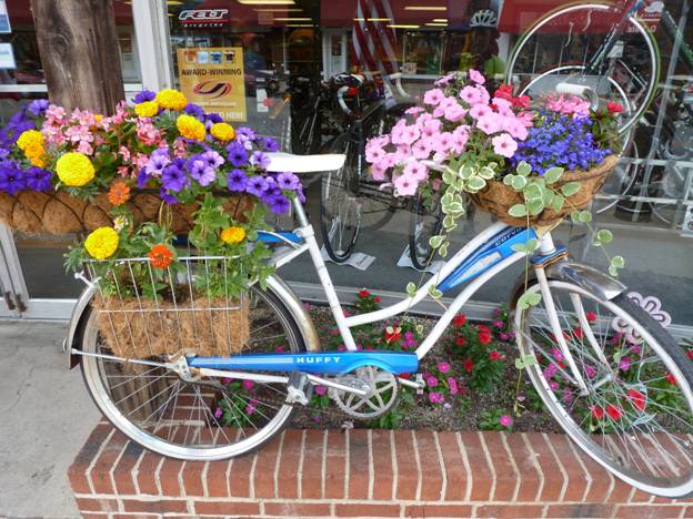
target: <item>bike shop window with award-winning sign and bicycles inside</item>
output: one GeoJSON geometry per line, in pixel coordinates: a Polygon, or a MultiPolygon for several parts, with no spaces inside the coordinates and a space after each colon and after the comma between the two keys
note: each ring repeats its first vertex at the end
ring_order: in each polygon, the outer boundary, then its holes
{"type": "MultiPolygon", "coordinates": [[[[693,307],[686,304],[693,282],[693,31],[687,0],[617,2],[619,8],[609,10],[585,4],[565,10],[559,0],[168,4],[178,85],[205,109],[274,136],[294,153],[334,151],[334,142],[349,132],[353,141],[359,114],[379,103],[384,109],[374,111],[378,116],[361,123],[365,133],[382,131],[444,73],[475,68],[491,84],[512,82],[534,95],[550,92],[563,81],[561,75],[582,75],[603,100],[624,104],[629,122],[620,165],[591,207],[593,226],[615,233],[611,252],[629,260],[624,283],[661,297],[675,323],[693,325],[693,307]],[[637,21],[630,21],[629,12],[637,21]],[[605,45],[610,35],[614,42],[605,45]],[[584,72],[587,65],[593,69],[584,72]],[[361,81],[339,77],[349,73],[361,81]],[[339,99],[342,85],[349,88],[339,99]]],[[[408,248],[415,245],[416,226],[431,215],[379,190],[365,170],[360,175],[342,202],[358,208],[361,227],[353,248],[341,251],[345,263],[330,263],[331,274],[343,287],[401,293],[421,275],[412,268],[408,248]]],[[[333,228],[324,221],[324,176],[305,183],[311,220],[329,240],[333,228]]],[[[455,245],[490,222],[488,214],[470,207],[455,245]]],[[[555,234],[574,257],[605,267],[601,252],[590,246],[587,228],[564,223],[555,234]]],[[[314,282],[304,266],[294,263],[282,274],[314,282]]],[[[486,312],[506,301],[516,274],[508,272],[478,293],[476,308],[486,312]]]]}

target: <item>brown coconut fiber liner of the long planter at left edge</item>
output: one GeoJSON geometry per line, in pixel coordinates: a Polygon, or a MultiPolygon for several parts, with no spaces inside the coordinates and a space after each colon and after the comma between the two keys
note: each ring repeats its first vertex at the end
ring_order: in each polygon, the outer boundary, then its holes
{"type": "MultiPolygon", "coordinates": [[[[161,204],[158,192],[133,190],[127,207],[134,215],[135,223],[157,222],[161,204]]],[[[174,233],[183,234],[192,228],[192,214],[198,206],[197,203],[167,206],[174,233]]],[[[233,218],[242,220],[243,212],[252,210],[253,201],[248,196],[231,196],[224,207],[233,218]]],[[[106,193],[99,194],[93,203],[71,196],[64,191],[27,191],[16,196],[0,193],[0,221],[23,233],[87,233],[97,227],[111,226],[111,208],[106,193]]]]}

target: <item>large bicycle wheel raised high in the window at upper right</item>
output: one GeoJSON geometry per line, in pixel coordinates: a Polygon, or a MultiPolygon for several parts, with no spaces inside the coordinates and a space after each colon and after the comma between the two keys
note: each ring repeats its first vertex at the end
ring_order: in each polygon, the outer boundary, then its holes
{"type": "Polygon", "coordinates": [[[515,43],[505,81],[533,99],[559,83],[591,86],[602,108],[610,101],[623,105],[620,131],[629,131],[652,102],[661,67],[653,34],[635,17],[605,47],[622,16],[621,3],[574,3],[549,12],[515,43]],[[594,55],[600,62],[587,71],[594,55]]]}

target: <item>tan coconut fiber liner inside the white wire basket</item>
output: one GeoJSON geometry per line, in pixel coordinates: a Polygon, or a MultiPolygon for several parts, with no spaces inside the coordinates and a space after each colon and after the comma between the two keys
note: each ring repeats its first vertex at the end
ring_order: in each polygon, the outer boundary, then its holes
{"type": "Polygon", "coordinates": [[[229,356],[240,353],[250,337],[248,298],[200,297],[177,305],[97,296],[91,304],[99,332],[119,357],[229,356]]]}

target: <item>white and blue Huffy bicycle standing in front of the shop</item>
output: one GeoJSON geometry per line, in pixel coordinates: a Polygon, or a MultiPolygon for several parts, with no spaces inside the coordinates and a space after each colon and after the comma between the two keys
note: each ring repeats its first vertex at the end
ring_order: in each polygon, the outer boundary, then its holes
{"type": "MultiPolygon", "coordinates": [[[[343,155],[279,153],[272,154],[269,170],[335,171],[343,161],[343,155]]],[[[521,305],[512,318],[521,359],[541,399],[578,446],[619,478],[670,498],[693,491],[693,365],[671,335],[629,298],[621,283],[569,260],[566,250],[554,244],[549,232],[538,235],[532,228],[495,223],[452,255],[410,297],[376,312],[345,317],[314,230],[300,202],[293,205],[299,227],[292,233],[259,233],[259,240],[281,245],[270,260],[275,266],[304,253],[310,255],[345,352],[320,350],[307,311],[272,275],[267,279],[267,289],[250,286],[240,303],[249,323],[244,348],[229,339],[240,336],[238,326],[227,323],[224,328],[223,318],[193,317],[195,327],[181,330],[181,325],[178,333],[164,338],[181,342],[174,344],[178,355],[127,358],[109,347],[112,343],[104,339],[108,334],[103,332],[103,326],[109,329],[109,319],[122,320],[118,317],[120,311],[104,316],[100,315],[103,309],[90,305],[103,277],[84,277],[88,287],[70,324],[68,352],[73,362],[81,362],[87,387],[99,409],[132,440],[161,455],[189,460],[243,455],[272,439],[289,423],[295,407],[309,403],[315,385],[327,386],[331,399],[352,417],[368,419],[385,413],[395,403],[401,385],[423,387],[420,376],[409,379],[402,375],[418,370],[419,360],[482,285],[511,265],[526,261],[513,245],[535,237],[541,245],[529,262],[532,275],[529,282],[522,275],[511,304],[514,307],[528,293],[541,294],[539,306],[521,305]],[[433,287],[444,293],[461,284],[465,284],[464,288],[414,353],[356,350],[351,333],[354,326],[405,314],[433,287]],[[213,329],[202,329],[203,325],[213,329]],[[198,343],[182,344],[183,337],[192,342],[200,334],[214,335],[237,353],[212,357],[191,354],[187,348],[198,343]],[[614,356],[623,340],[635,344],[639,352],[631,358],[627,376],[617,375],[619,357],[614,356]],[[558,389],[543,375],[542,365],[553,358],[552,347],[559,348],[564,359],[554,365],[562,375],[558,389]],[[223,415],[212,411],[218,403],[225,409],[223,415]],[[619,403],[617,416],[606,413],[596,425],[591,409],[597,406],[609,410],[610,405],[615,406],[613,403],[619,403]]],[[[169,272],[168,276],[171,284],[175,279],[181,285],[182,293],[188,285],[191,291],[192,285],[203,289],[201,279],[223,279],[210,274],[210,269],[225,268],[229,260],[184,257],[181,261],[185,272],[169,272]]],[[[116,286],[109,295],[117,297],[122,283],[139,299],[132,272],[151,272],[150,260],[123,260],[121,264],[121,275],[113,274],[109,279],[108,286],[116,286]]],[[[171,292],[175,294],[177,289],[172,286],[171,292]]],[[[165,311],[172,329],[183,319],[190,324],[190,312],[197,312],[188,307],[194,302],[192,297],[190,301],[165,311]]],[[[227,309],[219,301],[215,305],[220,307],[207,309],[227,309]]],[[[123,312],[144,313],[137,305],[129,308],[123,312]]],[[[162,311],[150,309],[147,318],[162,318],[162,311]]]]}

